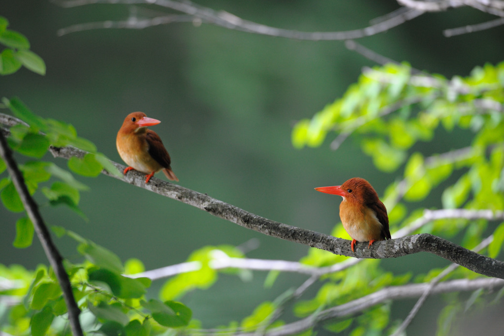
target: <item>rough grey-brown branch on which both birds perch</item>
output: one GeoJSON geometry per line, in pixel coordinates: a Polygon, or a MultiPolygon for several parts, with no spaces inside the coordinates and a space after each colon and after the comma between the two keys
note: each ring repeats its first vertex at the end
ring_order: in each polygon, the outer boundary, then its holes
{"type": "MultiPolygon", "coordinates": [[[[64,157],[67,159],[72,156],[82,157],[86,153],[85,151],[73,147],[51,147],[50,150],[55,157],[64,157]]],[[[123,171],[125,168],[122,164],[116,162],[112,163],[119,171],[123,171]]],[[[106,171],[102,173],[115,177],[106,171]]],[[[311,230],[292,227],[284,223],[263,218],[234,205],[212,198],[206,194],[201,194],[156,178],[151,179],[148,184],[145,184],[144,174],[136,171],[129,172],[128,175],[121,180],[195,206],[216,217],[226,219],[244,228],[290,242],[316,247],[335,254],[356,258],[396,258],[418,252],[429,252],[477,273],[504,278],[504,262],[472,252],[443,238],[430,234],[419,234],[375,242],[370,249],[367,248],[367,244],[357,244],[355,253],[353,253],[350,249],[350,243],[347,240],[311,230]]]]}

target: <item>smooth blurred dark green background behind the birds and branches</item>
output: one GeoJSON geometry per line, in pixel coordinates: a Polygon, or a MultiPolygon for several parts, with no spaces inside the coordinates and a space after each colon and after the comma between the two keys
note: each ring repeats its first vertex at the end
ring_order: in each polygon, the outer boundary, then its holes
{"type": "MultiPolygon", "coordinates": [[[[316,149],[296,150],[291,145],[295,121],[311,118],[340,97],[357,80],[362,67],[375,65],[347,50],[343,41],[289,40],[192,23],[143,30],[90,30],[58,37],[57,30],[70,25],[125,20],[132,10],[139,18],[152,18],[163,10],[123,5],[64,9],[43,0],[1,0],[0,4],[0,15],[10,21],[9,28],[26,35],[31,50],[47,66],[45,76],[23,68],[2,77],[1,96],[18,96],[35,114],[74,125],[80,136],[93,141],[114,161],[122,163],[115,136],[124,117],[143,111],[162,121],[152,129],[166,145],[180,185],[260,216],[326,234],[339,222],[340,198],[318,193],[314,187],[338,185],[360,176],[383,195],[385,187],[402,175],[401,169],[395,174],[378,171],[351,138],[338,151],[329,148],[334,138],[316,149]]],[[[399,7],[392,0],[198,4],[300,31],[364,28],[370,20],[399,7]]],[[[470,9],[425,14],[357,42],[420,70],[466,76],[477,65],[502,61],[504,28],[451,38],[445,38],[442,31],[492,18],[470,9]]],[[[440,131],[436,139],[414,149],[433,153],[470,143],[458,131],[440,131]],[[433,148],[432,144],[438,145],[433,148]]],[[[54,160],[49,155],[44,159],[54,160]]],[[[54,162],[67,164],[63,159],[54,162]]],[[[157,177],[166,180],[162,174],[157,177]]],[[[73,230],[114,251],[123,261],[139,258],[146,269],[183,262],[193,250],[206,245],[240,245],[250,239],[259,242],[257,249],[247,253],[251,258],[299,260],[308,249],[115,179],[78,179],[91,188],[81,194],[80,203],[89,221],[64,207],[44,207],[47,223],[73,230]]],[[[439,207],[438,196],[434,193],[422,206],[439,207]]],[[[18,217],[0,207],[0,262],[32,269],[47,263],[36,239],[27,249],[12,246],[18,217]]],[[[62,238],[56,243],[66,257],[79,257],[74,241],[62,238]]],[[[384,260],[382,265],[400,273],[412,263],[415,273],[433,264],[447,264],[421,254],[384,260]]],[[[195,291],[182,301],[204,327],[213,327],[240,320],[260,302],[273,300],[305,279],[282,274],[273,288],[264,289],[265,276],[255,272],[253,280],[243,283],[221,275],[212,289],[195,291]]],[[[161,285],[162,281],[153,284],[153,295],[161,285]]],[[[411,307],[412,302],[405,304],[411,307]]],[[[442,306],[435,299],[428,300],[408,334],[432,334],[442,306]]],[[[393,306],[395,318],[404,318],[404,313],[401,303],[393,306]]]]}

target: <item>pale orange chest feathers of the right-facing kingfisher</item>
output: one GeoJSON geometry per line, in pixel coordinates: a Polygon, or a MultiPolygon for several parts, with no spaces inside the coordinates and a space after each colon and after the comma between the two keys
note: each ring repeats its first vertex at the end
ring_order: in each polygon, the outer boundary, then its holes
{"type": "Polygon", "coordinates": [[[149,154],[149,143],[145,134],[122,134],[117,137],[117,151],[124,162],[136,171],[150,174],[161,169],[159,163],[149,154]],[[119,141],[119,137],[122,141],[119,141]]]}

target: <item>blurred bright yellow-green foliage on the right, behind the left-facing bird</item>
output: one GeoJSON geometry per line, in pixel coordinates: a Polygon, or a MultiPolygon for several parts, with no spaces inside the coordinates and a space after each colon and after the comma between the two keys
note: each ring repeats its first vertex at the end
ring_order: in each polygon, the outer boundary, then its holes
{"type": "MultiPolygon", "coordinates": [[[[404,201],[424,201],[437,187],[442,188],[441,201],[446,209],[501,210],[504,208],[503,92],[504,63],[476,67],[470,76],[456,76],[450,80],[441,75],[414,72],[408,64],[374,67],[365,70],[341,98],[311,120],[299,121],[292,131],[292,143],[297,148],[318,147],[335,132],[338,135],[331,143],[333,149],[352,136],[362,151],[372,157],[378,169],[392,173],[403,166],[402,179],[391,184],[383,198],[389,210],[392,232],[399,224],[407,226],[422,214],[422,209],[418,209],[407,216],[411,206],[406,206],[404,201]],[[418,142],[434,143],[439,128],[446,132],[458,128],[466,132],[471,141],[467,147],[445,153],[413,150],[418,142]]],[[[434,146],[431,148],[435,150],[434,146]]],[[[463,245],[473,248],[489,234],[488,227],[489,221],[485,219],[438,219],[423,227],[422,232],[445,236],[464,232],[463,245]]],[[[489,231],[493,232],[493,241],[487,254],[497,257],[502,252],[502,224],[492,225],[489,231]]],[[[334,235],[345,238],[338,229],[334,235]]],[[[303,260],[322,266],[341,259],[312,249],[303,260]]],[[[321,305],[337,304],[334,300],[349,289],[349,293],[359,297],[369,293],[365,279],[373,273],[371,269],[359,274],[354,273],[356,269],[349,269],[339,274],[334,282],[321,288],[317,298],[299,302],[296,312],[304,315],[321,305]],[[362,279],[363,284],[356,284],[362,279]]],[[[375,272],[367,280],[371,284],[372,279],[385,276],[392,281],[394,278],[392,274],[387,277],[387,273],[379,269],[375,272]]],[[[439,272],[435,270],[432,275],[417,277],[416,281],[427,282],[439,272]]],[[[457,270],[446,278],[468,276],[465,270],[457,270]]],[[[397,276],[395,279],[399,280],[397,276]]],[[[407,277],[403,277],[403,281],[407,281],[407,277]]],[[[380,287],[371,286],[371,289],[380,287]]],[[[339,303],[348,299],[343,298],[339,303]]],[[[450,330],[457,307],[459,304],[452,302],[439,315],[440,333],[450,330]]],[[[348,320],[341,323],[336,324],[335,330],[353,325],[348,320]]],[[[381,329],[386,326],[384,323],[381,329]]],[[[361,320],[352,334],[372,334],[364,330],[368,329],[361,320]]]]}

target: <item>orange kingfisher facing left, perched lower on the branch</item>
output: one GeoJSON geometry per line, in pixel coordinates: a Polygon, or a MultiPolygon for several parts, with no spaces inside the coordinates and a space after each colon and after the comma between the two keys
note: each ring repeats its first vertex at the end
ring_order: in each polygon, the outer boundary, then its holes
{"type": "Polygon", "coordinates": [[[355,242],[369,242],[369,248],[377,240],[391,239],[387,208],[366,180],[352,178],[341,186],[315,190],[343,197],[340,218],[343,228],[352,238],[352,252],[355,242]]]}

